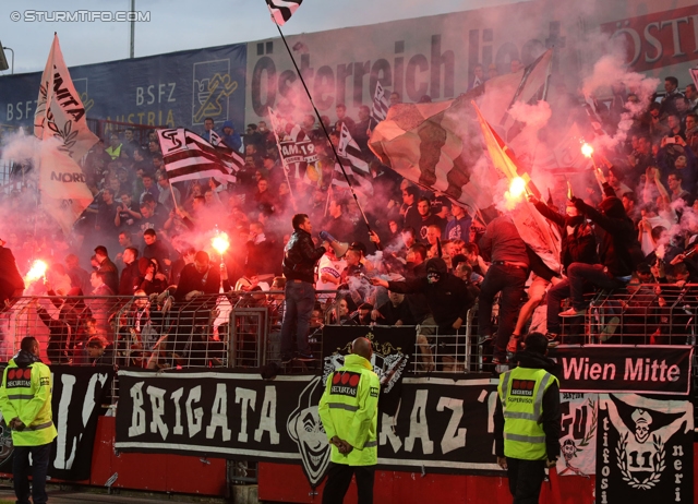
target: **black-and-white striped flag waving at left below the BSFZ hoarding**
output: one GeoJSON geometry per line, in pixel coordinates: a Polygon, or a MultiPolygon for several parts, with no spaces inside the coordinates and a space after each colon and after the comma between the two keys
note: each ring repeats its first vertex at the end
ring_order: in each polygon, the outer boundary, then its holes
{"type": "Polygon", "coordinates": [[[208,177],[221,183],[234,182],[237,172],[244,165],[242,156],[232,148],[212,145],[184,128],[158,130],[157,135],[170,182],[208,177]]]}

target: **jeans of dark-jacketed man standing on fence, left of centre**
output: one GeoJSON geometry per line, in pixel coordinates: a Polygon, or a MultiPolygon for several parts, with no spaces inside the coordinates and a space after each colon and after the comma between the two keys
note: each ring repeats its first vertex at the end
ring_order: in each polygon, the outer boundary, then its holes
{"type": "Polygon", "coordinates": [[[291,357],[293,349],[293,328],[296,345],[300,353],[308,353],[308,331],[310,315],[315,305],[315,289],[306,281],[286,281],[284,301],[284,321],[281,322],[281,356],[291,357]]]}

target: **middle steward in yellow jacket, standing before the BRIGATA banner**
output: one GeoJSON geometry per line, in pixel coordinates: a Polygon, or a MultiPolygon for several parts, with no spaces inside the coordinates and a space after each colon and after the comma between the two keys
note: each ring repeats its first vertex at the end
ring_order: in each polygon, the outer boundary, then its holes
{"type": "Polygon", "coordinates": [[[320,418],[332,444],[323,504],[341,504],[352,476],[359,504],[373,503],[381,383],[371,365],[372,355],[370,340],[354,339],[345,365],[329,375],[320,399],[320,418]]]}

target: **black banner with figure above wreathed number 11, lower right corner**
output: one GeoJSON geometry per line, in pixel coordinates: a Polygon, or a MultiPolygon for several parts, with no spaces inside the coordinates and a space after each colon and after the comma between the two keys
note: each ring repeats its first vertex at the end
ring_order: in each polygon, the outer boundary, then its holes
{"type": "Polygon", "coordinates": [[[694,502],[694,409],[684,397],[599,396],[597,502],[694,502]]]}

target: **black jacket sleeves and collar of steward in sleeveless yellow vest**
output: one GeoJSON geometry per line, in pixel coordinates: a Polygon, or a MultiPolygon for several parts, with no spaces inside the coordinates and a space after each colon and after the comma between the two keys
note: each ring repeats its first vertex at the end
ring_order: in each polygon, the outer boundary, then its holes
{"type": "MultiPolygon", "coordinates": [[[[524,350],[514,356],[514,360],[521,368],[544,369],[553,376],[558,375],[557,364],[540,353],[524,350]]],[[[543,432],[549,460],[555,460],[559,456],[561,419],[559,387],[557,383],[553,383],[543,394],[543,432]]],[[[494,453],[497,457],[504,457],[504,411],[498,397],[494,409],[494,453]]]]}

